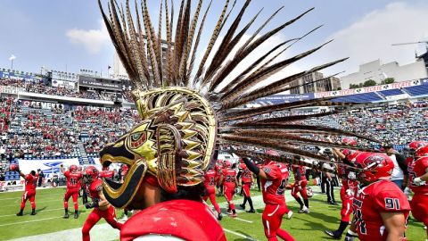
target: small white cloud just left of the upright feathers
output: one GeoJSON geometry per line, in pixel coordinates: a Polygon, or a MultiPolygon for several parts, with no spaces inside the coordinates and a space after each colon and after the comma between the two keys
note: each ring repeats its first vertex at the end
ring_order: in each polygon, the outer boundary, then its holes
{"type": "Polygon", "coordinates": [[[103,22],[100,22],[100,29],[68,29],[66,36],[72,44],[85,46],[90,54],[98,54],[103,46],[110,43],[109,33],[103,22]]]}

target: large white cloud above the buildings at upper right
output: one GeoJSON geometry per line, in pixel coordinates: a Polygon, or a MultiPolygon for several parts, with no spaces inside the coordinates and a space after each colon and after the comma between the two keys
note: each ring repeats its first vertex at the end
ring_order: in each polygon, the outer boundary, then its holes
{"type": "MultiPolygon", "coordinates": [[[[350,59],[339,69],[350,74],[358,71],[361,63],[381,59],[383,63],[397,61],[400,64],[415,61],[415,51],[424,53],[424,45],[391,46],[394,43],[427,40],[428,4],[393,3],[381,10],[366,14],[346,29],[333,33],[333,43],[325,46],[320,55],[325,59],[350,59]]],[[[334,70],[335,69],[335,70],[334,70]]]]}

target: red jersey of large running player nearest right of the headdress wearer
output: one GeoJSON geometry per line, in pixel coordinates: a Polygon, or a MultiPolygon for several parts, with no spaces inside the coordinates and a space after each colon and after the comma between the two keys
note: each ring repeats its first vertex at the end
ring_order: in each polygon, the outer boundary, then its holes
{"type": "Polygon", "coordinates": [[[285,204],[285,187],[288,179],[288,169],[285,165],[271,162],[263,166],[268,179],[260,179],[263,187],[261,193],[265,204],[285,204]]]}

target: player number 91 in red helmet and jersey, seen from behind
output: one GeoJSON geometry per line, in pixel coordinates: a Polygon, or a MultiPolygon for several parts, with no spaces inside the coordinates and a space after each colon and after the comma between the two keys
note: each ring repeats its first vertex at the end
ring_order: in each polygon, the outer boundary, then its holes
{"type": "Polygon", "coordinates": [[[355,158],[360,189],[353,200],[354,215],[345,240],[405,240],[410,211],[406,195],[392,183],[394,163],[386,154],[364,152],[355,158]]]}

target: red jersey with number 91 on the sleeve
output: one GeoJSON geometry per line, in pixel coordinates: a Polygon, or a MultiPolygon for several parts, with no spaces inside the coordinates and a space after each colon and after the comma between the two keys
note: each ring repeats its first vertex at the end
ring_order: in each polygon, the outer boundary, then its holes
{"type": "Polygon", "coordinates": [[[379,180],[358,191],[353,200],[354,216],[359,240],[386,240],[380,212],[403,212],[407,220],[410,204],[397,185],[379,180]]]}

